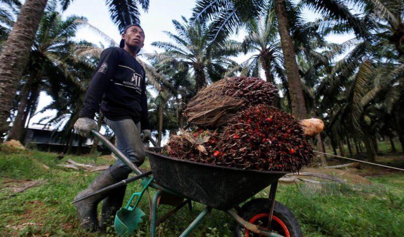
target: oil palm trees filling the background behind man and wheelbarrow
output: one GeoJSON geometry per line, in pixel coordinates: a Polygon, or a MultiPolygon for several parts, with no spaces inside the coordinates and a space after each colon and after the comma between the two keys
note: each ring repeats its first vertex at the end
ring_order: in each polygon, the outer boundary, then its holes
{"type": "MultiPolygon", "coordinates": [[[[13,13],[0,12],[9,26],[0,31],[0,127],[6,130],[9,111],[14,111],[9,138],[21,140],[24,125],[40,112],[39,92],[45,91],[53,102],[43,110],[55,109],[57,115],[44,121],[61,130],[69,144],[102,49],[72,40],[87,22],[76,16],[62,20],[58,4],[66,9],[71,1],[29,0],[24,6],[2,2],[20,14],[14,24],[13,13]],[[27,12],[29,6],[35,11],[27,12]],[[30,22],[24,22],[26,18],[30,22]],[[34,23],[38,29],[33,32],[13,33],[24,24],[32,29],[34,23]],[[20,51],[15,50],[16,40],[20,51]]],[[[148,1],[133,1],[132,6],[106,2],[120,29],[139,21],[138,5],[148,9],[148,1]]],[[[153,42],[161,52],[141,52],[138,58],[149,88],[157,92],[156,98],[149,96],[149,110],[158,143],[166,131],[185,125],[182,110],[200,88],[223,77],[245,75],[276,84],[282,95],[276,105],[283,110],[326,123],[314,139],[320,151],[326,141],[334,153],[338,149],[340,155],[352,156],[356,150],[374,160],[379,139],[394,145],[398,138],[404,148],[403,6],[401,0],[196,1],[191,19],[173,20],[175,32],[165,32],[169,42],[153,42]],[[321,18],[304,20],[307,8],[321,18]],[[229,39],[239,30],[246,32],[241,42],[229,39]],[[344,33],[355,37],[341,44],[325,40],[329,34],[344,33]],[[251,55],[246,61],[233,60],[245,54],[251,55]],[[344,154],[344,144],[350,154],[344,154]]]]}

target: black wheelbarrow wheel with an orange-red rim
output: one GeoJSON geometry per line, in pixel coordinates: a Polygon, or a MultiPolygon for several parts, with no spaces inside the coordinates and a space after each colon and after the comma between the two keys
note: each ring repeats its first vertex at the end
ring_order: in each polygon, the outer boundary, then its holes
{"type": "MultiPolygon", "coordinates": [[[[263,226],[263,229],[268,229],[269,206],[270,203],[267,198],[253,199],[241,207],[238,215],[252,224],[263,226]]],[[[286,237],[303,236],[301,227],[293,213],[276,201],[272,216],[271,231],[286,237]]],[[[245,229],[239,224],[236,224],[234,233],[235,236],[240,237],[261,236],[245,229]]]]}

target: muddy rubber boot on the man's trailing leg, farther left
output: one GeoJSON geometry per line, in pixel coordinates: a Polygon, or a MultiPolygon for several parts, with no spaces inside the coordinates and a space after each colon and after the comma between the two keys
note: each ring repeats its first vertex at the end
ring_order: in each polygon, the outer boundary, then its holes
{"type": "MultiPolygon", "coordinates": [[[[76,195],[74,200],[87,196],[106,186],[116,183],[117,180],[111,175],[109,169],[104,170],[88,185],[86,189],[76,195]]],[[[80,225],[88,231],[96,231],[97,221],[97,205],[108,194],[98,194],[81,202],[75,203],[80,225]]]]}

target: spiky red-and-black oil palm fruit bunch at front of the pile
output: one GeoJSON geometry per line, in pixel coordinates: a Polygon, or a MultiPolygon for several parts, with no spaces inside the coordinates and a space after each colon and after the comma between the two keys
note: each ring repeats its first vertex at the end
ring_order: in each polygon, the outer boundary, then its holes
{"type": "Polygon", "coordinates": [[[217,165],[297,172],[310,164],[313,147],[300,121],[275,107],[257,105],[230,120],[218,137],[215,153],[217,165]]]}

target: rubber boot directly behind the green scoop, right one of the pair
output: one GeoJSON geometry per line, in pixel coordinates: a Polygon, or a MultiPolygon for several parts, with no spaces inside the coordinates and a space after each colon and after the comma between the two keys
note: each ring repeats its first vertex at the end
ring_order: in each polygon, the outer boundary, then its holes
{"type": "Polygon", "coordinates": [[[122,207],[125,191],[126,186],[118,187],[114,189],[110,196],[103,200],[101,219],[99,220],[100,231],[105,232],[108,226],[112,226],[114,224],[115,215],[122,207]]]}

